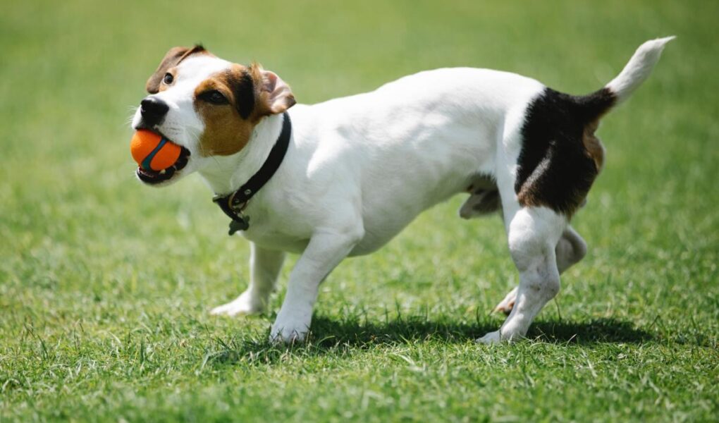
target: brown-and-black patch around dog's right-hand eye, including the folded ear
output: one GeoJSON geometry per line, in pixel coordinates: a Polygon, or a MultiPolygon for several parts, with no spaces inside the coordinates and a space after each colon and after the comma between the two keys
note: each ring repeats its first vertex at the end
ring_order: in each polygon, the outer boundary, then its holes
{"type": "Polygon", "coordinates": [[[253,63],[233,64],[195,88],[194,104],[205,129],[201,155],[232,155],[247,145],[262,117],[285,112],[295,104],[290,88],[274,73],[253,63]],[[268,76],[270,74],[270,76],[268,76]],[[217,92],[225,101],[218,99],[217,92]]]}

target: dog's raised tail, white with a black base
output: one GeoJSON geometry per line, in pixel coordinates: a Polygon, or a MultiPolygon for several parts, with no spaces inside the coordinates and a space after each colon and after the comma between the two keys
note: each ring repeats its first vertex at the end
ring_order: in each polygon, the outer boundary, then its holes
{"type": "Polygon", "coordinates": [[[587,122],[594,121],[609,111],[613,106],[628,99],[646,78],[659,61],[661,51],[672,37],[649,40],[640,45],[624,69],[610,83],[587,96],[576,97],[578,104],[584,109],[587,122]]]}

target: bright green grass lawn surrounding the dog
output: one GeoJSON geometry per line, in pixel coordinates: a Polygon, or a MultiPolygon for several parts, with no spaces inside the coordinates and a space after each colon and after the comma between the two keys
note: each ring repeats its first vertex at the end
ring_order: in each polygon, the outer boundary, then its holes
{"type": "Polygon", "coordinates": [[[0,14],[0,420],[716,421],[719,4],[14,1],[0,14]],[[517,282],[500,220],[455,198],[322,286],[306,346],[214,318],[247,243],[198,178],[134,181],[127,118],[173,45],[259,60],[311,103],[426,68],[574,94],[678,35],[607,117],[574,226],[587,258],[513,345],[477,345],[517,282]]]}

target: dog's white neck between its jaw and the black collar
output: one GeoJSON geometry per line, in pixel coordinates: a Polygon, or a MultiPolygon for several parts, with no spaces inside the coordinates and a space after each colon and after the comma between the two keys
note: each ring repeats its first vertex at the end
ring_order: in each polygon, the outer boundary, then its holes
{"type": "Polygon", "coordinates": [[[260,170],[280,136],[282,122],[282,114],[265,117],[252,131],[247,145],[238,153],[209,158],[211,161],[198,170],[198,173],[214,194],[225,195],[237,191],[260,170]]]}

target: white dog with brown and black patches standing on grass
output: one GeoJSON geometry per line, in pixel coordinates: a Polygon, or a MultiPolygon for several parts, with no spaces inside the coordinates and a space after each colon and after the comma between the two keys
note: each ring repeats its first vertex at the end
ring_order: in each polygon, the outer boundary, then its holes
{"type": "Polygon", "coordinates": [[[460,216],[498,211],[519,272],[496,307],[505,322],[477,341],[521,339],[559,292],[559,274],[587,253],[569,222],[603,166],[600,118],[646,80],[672,38],[645,42],[586,96],[515,73],[443,68],[313,105],[296,104],[256,63],[175,47],[147,81],[132,127],[183,153],[169,171],[138,168],[137,177],[167,186],[199,173],[230,232],[250,241],[247,290],[212,314],[264,311],[285,253],[300,255],[275,342],[306,338],[319,285],[344,258],[372,253],[421,211],[469,193],[460,216]]]}

